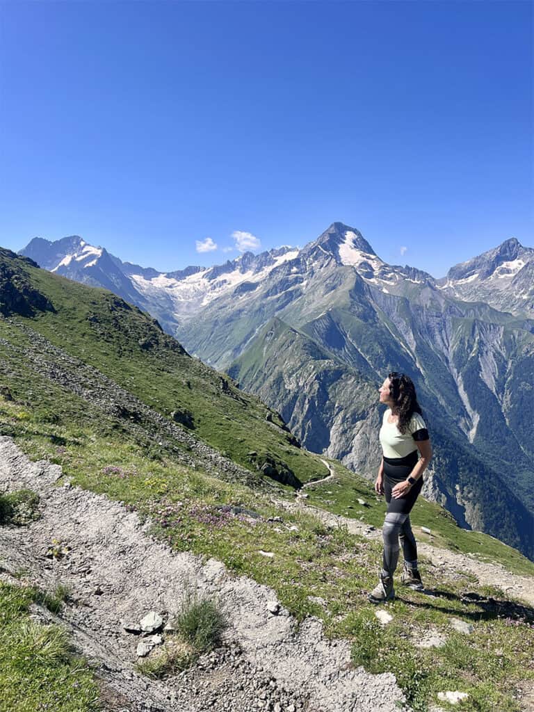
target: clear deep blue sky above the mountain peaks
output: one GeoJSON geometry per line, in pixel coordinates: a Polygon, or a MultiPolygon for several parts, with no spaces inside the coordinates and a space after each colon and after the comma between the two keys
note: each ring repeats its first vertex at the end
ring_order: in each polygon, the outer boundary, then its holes
{"type": "Polygon", "coordinates": [[[532,246],[532,20],[513,0],[4,2],[0,244],[80,234],[168,271],[343,221],[434,276],[532,246]]]}

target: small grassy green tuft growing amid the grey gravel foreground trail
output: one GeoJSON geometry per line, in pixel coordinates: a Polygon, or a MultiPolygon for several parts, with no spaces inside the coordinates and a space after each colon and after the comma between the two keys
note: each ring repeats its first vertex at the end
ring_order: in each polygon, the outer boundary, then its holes
{"type": "Polygon", "coordinates": [[[185,641],[204,652],[220,642],[227,623],[214,600],[187,590],[175,625],[185,641]]]}

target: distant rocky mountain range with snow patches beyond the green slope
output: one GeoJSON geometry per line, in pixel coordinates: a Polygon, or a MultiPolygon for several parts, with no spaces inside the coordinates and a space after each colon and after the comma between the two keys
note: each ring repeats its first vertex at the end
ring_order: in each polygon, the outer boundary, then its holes
{"type": "Polygon", "coordinates": [[[376,389],[389,370],[407,372],[434,442],[426,496],[534,556],[534,249],[511,239],[439,280],[385,263],[341,223],[302,249],[168,273],[75,236],[21,253],[147,311],[309,450],[369,477],[376,389]]]}

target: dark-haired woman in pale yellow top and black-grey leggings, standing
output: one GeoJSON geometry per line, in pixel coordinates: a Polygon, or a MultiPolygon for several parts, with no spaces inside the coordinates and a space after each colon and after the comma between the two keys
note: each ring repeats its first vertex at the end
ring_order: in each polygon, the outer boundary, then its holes
{"type": "Polygon", "coordinates": [[[423,589],[409,513],[421,491],[423,472],[432,456],[429,433],[412,379],[397,372],[390,373],[379,389],[379,401],[388,409],[379,434],[383,457],[375,491],[386,496],[387,513],[382,529],[382,571],[378,585],[369,594],[372,603],[394,598],[393,574],[399,559],[399,538],[404,554],[401,581],[415,590],[423,589]]]}

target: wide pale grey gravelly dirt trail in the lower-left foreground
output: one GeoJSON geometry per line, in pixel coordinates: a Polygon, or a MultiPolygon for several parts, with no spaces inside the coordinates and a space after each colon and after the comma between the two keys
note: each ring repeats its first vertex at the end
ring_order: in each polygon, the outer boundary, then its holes
{"type": "MultiPolygon", "coordinates": [[[[61,582],[73,602],[61,620],[75,644],[98,666],[107,711],[394,712],[402,701],[392,674],[350,669],[350,644],[328,642],[317,619],[299,629],[284,609],[268,611],[276,595],[221,562],[173,553],[152,539],[135,513],[79,488],[57,486],[61,468],[32,463],[11,439],[0,437],[0,491],[26,487],[41,496],[41,519],[22,528],[0,528],[4,579],[25,570],[47,590],[61,582]],[[70,547],[46,558],[51,540],[70,547]],[[187,582],[215,595],[230,627],[225,646],[203,656],[191,671],[150,681],[134,669],[139,638],[122,629],[150,610],[172,617],[187,582]]],[[[43,613],[43,615],[45,615],[43,613]]],[[[46,614],[49,617],[49,614],[46,614]]]]}

